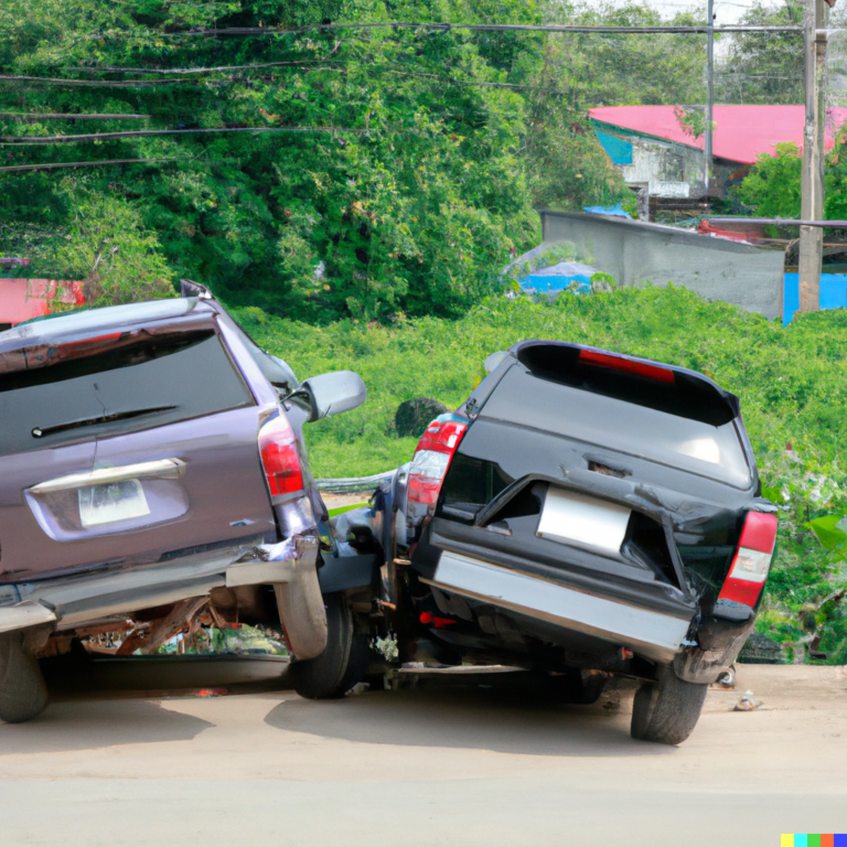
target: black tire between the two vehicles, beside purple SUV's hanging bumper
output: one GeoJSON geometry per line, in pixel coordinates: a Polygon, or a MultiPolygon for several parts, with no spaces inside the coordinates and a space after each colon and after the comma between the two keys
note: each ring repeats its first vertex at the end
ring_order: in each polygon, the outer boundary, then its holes
{"type": "Polygon", "coordinates": [[[371,645],[357,631],[344,594],[326,594],[326,646],[319,656],[292,662],[289,674],[294,690],[313,700],[343,697],[367,673],[371,645]]]}

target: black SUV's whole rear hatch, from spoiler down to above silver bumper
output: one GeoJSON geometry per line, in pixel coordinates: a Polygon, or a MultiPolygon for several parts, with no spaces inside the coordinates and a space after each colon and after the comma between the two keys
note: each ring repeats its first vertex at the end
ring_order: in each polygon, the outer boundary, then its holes
{"type": "Polygon", "coordinates": [[[668,613],[714,599],[758,482],[733,395],[682,368],[524,342],[468,409],[432,543],[668,613]]]}

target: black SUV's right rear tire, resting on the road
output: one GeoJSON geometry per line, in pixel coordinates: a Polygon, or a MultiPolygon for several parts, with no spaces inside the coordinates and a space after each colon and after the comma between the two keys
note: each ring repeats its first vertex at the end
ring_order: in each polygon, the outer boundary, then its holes
{"type": "Polygon", "coordinates": [[[660,666],[656,682],[644,683],[635,693],[632,737],[660,744],[682,744],[697,726],[708,688],[683,682],[672,668],[660,666]]]}

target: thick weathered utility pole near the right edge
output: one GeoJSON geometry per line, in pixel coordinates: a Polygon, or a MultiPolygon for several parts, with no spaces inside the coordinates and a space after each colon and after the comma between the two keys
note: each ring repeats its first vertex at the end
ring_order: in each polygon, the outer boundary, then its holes
{"type": "MultiPolygon", "coordinates": [[[[806,0],[805,65],[806,119],[803,129],[803,178],[801,213],[804,221],[824,216],[824,135],[826,131],[826,26],[824,0],[806,0]]],[[[821,262],[824,233],[819,227],[800,227],[800,311],[821,308],[821,262]]]]}

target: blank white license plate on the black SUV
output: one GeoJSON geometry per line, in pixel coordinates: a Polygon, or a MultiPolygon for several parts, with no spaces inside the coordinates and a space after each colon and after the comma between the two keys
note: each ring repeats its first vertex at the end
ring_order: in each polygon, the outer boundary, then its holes
{"type": "Polygon", "coordinates": [[[536,535],[617,554],[626,535],[630,514],[625,506],[550,486],[536,535]]]}

